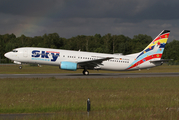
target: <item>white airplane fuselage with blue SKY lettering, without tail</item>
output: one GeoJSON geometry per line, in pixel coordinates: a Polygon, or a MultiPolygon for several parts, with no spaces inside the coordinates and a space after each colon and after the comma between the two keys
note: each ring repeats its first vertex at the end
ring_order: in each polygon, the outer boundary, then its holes
{"type": "MultiPolygon", "coordinates": [[[[59,66],[61,62],[68,61],[79,63],[84,61],[93,61],[96,59],[111,57],[109,60],[104,60],[101,64],[93,67],[92,69],[101,70],[128,70],[135,59],[134,55],[120,55],[120,54],[103,54],[94,52],[71,51],[50,48],[37,48],[37,47],[23,47],[17,48],[5,54],[5,56],[14,61],[14,63],[32,63],[44,65],[59,66]]],[[[130,70],[151,68],[156,66],[149,61],[138,65],[130,70]]],[[[78,67],[80,68],[80,67],[78,67]]],[[[82,68],[83,69],[83,68],[82,68]]]]}

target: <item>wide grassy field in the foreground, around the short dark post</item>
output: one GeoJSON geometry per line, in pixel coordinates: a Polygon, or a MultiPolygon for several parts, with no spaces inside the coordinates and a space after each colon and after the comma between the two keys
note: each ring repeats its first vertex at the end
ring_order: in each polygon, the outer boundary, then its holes
{"type": "Polygon", "coordinates": [[[177,120],[178,86],[179,77],[6,78],[0,79],[0,113],[55,113],[46,119],[177,120]],[[89,117],[88,98],[91,100],[89,117]]]}

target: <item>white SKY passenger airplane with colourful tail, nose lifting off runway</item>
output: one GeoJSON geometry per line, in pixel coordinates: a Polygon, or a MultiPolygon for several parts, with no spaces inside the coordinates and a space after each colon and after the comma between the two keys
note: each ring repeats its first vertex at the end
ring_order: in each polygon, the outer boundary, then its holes
{"type": "MultiPolygon", "coordinates": [[[[73,50],[21,47],[7,52],[4,56],[15,64],[55,65],[62,70],[75,71],[83,69],[84,75],[88,70],[128,71],[148,69],[160,66],[166,60],[161,59],[167,43],[170,30],[163,30],[143,51],[135,54],[105,54],[73,50]]],[[[21,69],[22,66],[19,66],[21,69]]]]}

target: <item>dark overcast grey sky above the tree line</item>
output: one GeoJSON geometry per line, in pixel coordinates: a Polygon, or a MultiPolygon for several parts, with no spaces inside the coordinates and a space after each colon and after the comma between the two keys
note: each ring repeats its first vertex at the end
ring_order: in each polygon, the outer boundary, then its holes
{"type": "Polygon", "coordinates": [[[0,0],[0,34],[147,34],[179,40],[179,0],[0,0]]]}

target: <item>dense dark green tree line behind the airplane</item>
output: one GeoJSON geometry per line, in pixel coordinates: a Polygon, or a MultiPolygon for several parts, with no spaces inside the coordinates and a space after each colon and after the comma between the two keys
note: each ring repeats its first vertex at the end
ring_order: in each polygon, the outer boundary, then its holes
{"type": "MultiPolygon", "coordinates": [[[[78,35],[72,38],[62,38],[57,33],[44,34],[43,36],[27,37],[14,34],[0,35],[0,62],[11,62],[4,57],[4,53],[19,47],[45,47],[66,50],[81,50],[97,53],[122,53],[132,54],[142,51],[151,41],[152,37],[138,34],[133,38],[124,35],[106,34],[101,36],[78,35]]],[[[179,41],[173,40],[166,44],[163,59],[173,59],[171,64],[179,64],[179,41]]]]}

